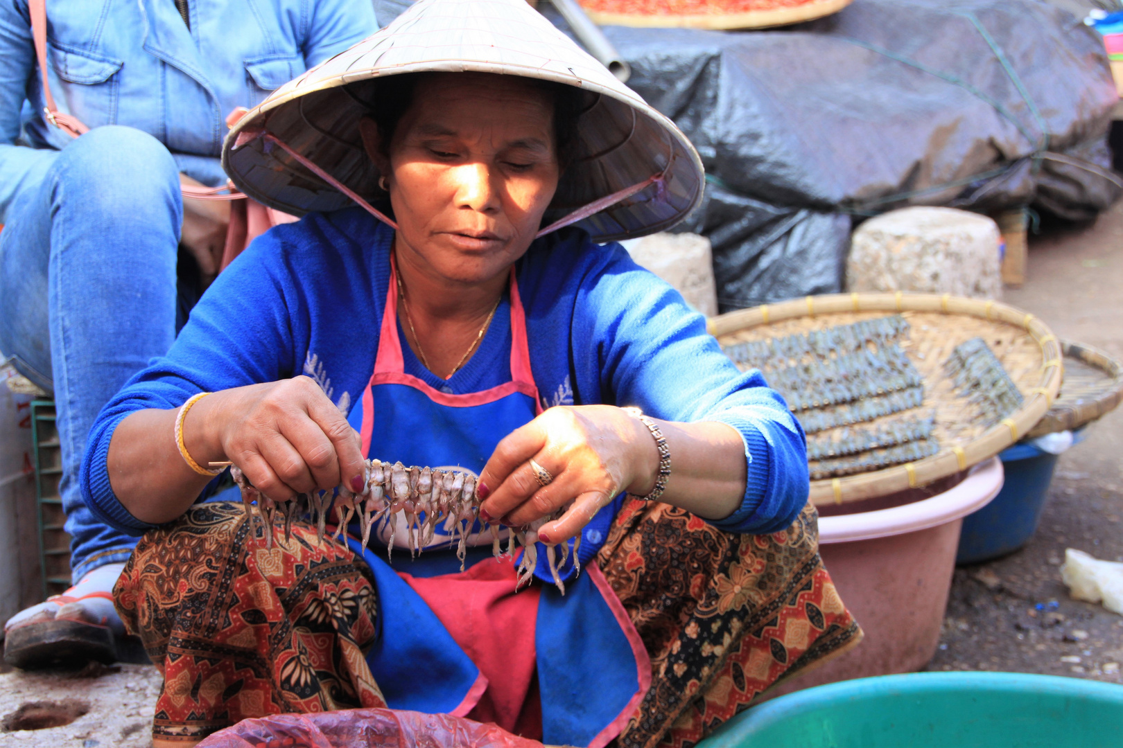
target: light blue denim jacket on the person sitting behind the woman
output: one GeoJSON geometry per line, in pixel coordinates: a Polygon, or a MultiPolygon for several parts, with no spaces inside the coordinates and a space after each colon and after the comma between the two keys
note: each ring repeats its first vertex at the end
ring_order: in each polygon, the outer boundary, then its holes
{"type": "MultiPolygon", "coordinates": [[[[377,30],[371,0],[47,0],[60,111],[156,137],[180,170],[226,179],[226,116],[377,30]]],[[[0,0],[0,223],[70,136],[43,117],[27,0],[0,0]],[[28,147],[29,146],[29,147],[28,147]]],[[[107,164],[106,168],[112,168],[107,164]]]]}

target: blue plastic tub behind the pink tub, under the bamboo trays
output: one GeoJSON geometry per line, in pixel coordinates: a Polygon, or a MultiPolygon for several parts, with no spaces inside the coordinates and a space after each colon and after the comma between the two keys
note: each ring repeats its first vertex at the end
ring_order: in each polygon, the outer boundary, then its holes
{"type": "MultiPolygon", "coordinates": [[[[1079,430],[1072,434],[1072,445],[1081,441],[1079,430]]],[[[957,564],[977,564],[1016,551],[1038,530],[1059,455],[1032,444],[1014,444],[998,459],[1006,482],[990,504],[964,517],[957,564]]]]}

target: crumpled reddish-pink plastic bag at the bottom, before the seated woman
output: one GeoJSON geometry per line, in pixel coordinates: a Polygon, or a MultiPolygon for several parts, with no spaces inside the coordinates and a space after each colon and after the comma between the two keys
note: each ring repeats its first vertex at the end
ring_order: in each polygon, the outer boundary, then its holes
{"type": "Polygon", "coordinates": [[[393,709],[346,709],[243,720],[199,748],[542,748],[494,724],[393,709]]]}

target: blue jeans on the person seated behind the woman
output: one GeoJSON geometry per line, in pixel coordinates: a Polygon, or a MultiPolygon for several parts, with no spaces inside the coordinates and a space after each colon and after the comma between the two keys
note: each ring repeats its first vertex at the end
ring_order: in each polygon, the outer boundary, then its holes
{"type": "Polygon", "coordinates": [[[93,517],[79,465],[101,407],[175,339],[181,200],[163,144],[101,127],[45,163],[0,232],[0,351],[55,393],[75,582],[137,542],[93,517]]]}

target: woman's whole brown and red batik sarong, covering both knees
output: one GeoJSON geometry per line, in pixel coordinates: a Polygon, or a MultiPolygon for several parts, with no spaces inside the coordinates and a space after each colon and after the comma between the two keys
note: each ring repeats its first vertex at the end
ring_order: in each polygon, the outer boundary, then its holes
{"type": "MultiPolygon", "coordinates": [[[[782,533],[733,535],[667,505],[624,506],[596,561],[652,681],[621,748],[693,746],[780,677],[857,643],[815,521],[809,506],[782,533]]],[[[165,675],[154,737],[384,705],[363,657],[377,631],[371,572],[305,523],[268,551],[240,505],[198,505],[144,537],[115,597],[165,675]]]]}

